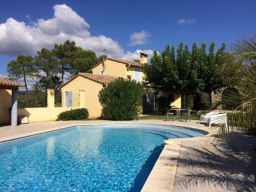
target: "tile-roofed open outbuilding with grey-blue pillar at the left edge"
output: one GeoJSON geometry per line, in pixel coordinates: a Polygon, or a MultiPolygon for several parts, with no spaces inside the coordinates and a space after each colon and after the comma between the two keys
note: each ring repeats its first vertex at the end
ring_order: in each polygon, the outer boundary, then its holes
{"type": "Polygon", "coordinates": [[[0,77],[0,125],[17,126],[17,91],[23,86],[0,77]]]}

